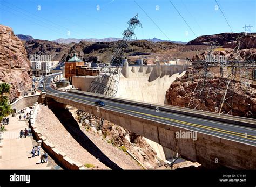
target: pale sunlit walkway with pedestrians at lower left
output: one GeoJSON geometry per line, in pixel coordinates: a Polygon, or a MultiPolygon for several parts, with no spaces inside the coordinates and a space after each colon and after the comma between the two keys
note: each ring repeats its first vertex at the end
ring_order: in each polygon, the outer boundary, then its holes
{"type": "Polygon", "coordinates": [[[0,148],[0,169],[51,169],[48,163],[41,163],[40,156],[31,157],[30,152],[35,145],[32,134],[19,138],[19,131],[29,128],[28,121],[23,121],[23,114],[21,116],[22,121],[18,119],[19,114],[16,117],[9,116],[9,125],[5,125],[7,131],[4,131],[3,147],[0,148]]]}

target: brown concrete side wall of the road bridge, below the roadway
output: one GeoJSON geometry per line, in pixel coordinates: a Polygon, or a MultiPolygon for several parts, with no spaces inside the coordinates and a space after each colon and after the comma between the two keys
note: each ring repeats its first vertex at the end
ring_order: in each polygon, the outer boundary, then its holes
{"type": "Polygon", "coordinates": [[[180,130],[187,132],[188,130],[139,118],[130,114],[110,111],[105,108],[100,108],[99,112],[97,112],[97,106],[59,98],[55,95],[49,95],[47,99],[54,99],[55,102],[76,107],[79,110],[111,121],[114,124],[122,126],[127,130],[142,135],[147,139],[181,154],[188,160],[198,162],[205,167],[228,167],[232,169],[256,168],[255,146],[203,133],[197,133],[196,141],[188,138],[176,138],[176,132],[180,130]]]}

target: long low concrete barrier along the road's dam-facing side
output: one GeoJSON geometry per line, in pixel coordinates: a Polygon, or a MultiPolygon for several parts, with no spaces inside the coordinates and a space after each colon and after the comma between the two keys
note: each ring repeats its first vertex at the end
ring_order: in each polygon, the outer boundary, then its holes
{"type": "Polygon", "coordinates": [[[76,93],[79,95],[84,95],[84,96],[89,96],[89,97],[100,98],[100,99],[112,100],[114,102],[119,102],[119,103],[143,106],[143,107],[147,107],[147,108],[154,109],[154,110],[158,109],[159,111],[185,114],[187,116],[199,117],[199,118],[203,118],[203,119],[210,119],[210,120],[220,121],[220,122],[224,122],[224,123],[231,123],[231,124],[235,124],[235,125],[242,125],[242,126],[246,126],[246,127],[256,128],[256,119],[251,119],[251,118],[230,116],[230,115],[226,115],[226,114],[220,115],[220,114],[214,113],[214,112],[200,111],[200,110],[196,110],[196,109],[187,109],[187,108],[183,108],[183,107],[176,107],[176,106],[169,106],[169,105],[144,103],[144,102],[138,102],[136,100],[127,100],[127,99],[117,98],[117,97],[115,97],[115,98],[107,97],[107,96],[102,96],[98,93],[83,92],[83,91],[78,91],[78,90],[68,90],[67,92],[76,93]]]}

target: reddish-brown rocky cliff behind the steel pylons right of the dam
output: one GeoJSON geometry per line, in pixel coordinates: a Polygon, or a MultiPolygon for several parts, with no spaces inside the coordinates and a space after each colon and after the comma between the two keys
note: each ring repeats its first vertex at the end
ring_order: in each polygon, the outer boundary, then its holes
{"type": "MultiPolygon", "coordinates": [[[[207,54],[208,51],[198,54],[193,57],[193,61],[204,60],[207,54]]],[[[240,55],[242,59],[250,58],[256,60],[256,49],[242,49],[237,53],[232,49],[226,49],[223,51],[214,51],[213,55],[225,56],[228,60],[236,59],[238,55],[240,55]]],[[[248,69],[248,76],[251,77],[249,87],[245,87],[243,83],[243,80],[245,80],[244,71],[245,69],[237,68],[234,83],[235,89],[234,92],[232,91],[233,88],[227,89],[226,101],[231,104],[233,98],[233,115],[256,118],[256,89],[253,86],[256,82],[252,80],[253,69],[248,69]]],[[[203,80],[200,79],[201,73],[203,73],[202,69],[196,72],[196,70],[191,67],[186,71],[183,77],[177,78],[166,92],[168,103],[174,106],[187,107],[191,100],[190,104],[194,103],[194,105],[190,107],[193,109],[197,106],[196,109],[199,110],[219,112],[221,99],[227,88],[226,77],[231,73],[231,70],[226,69],[224,72],[225,75],[221,78],[219,77],[219,68],[209,68],[208,73],[209,75],[212,74],[212,78],[206,80],[205,85],[202,87],[200,87],[200,85],[203,84],[203,80]],[[201,95],[198,94],[192,97],[196,87],[197,89],[203,89],[203,92],[201,92],[201,95]],[[209,91],[212,96],[209,96],[209,91]],[[217,110],[216,107],[218,108],[217,110]]],[[[233,82],[231,84],[233,84],[233,82]]],[[[227,102],[224,103],[222,111],[230,111],[231,107],[227,102]]]]}

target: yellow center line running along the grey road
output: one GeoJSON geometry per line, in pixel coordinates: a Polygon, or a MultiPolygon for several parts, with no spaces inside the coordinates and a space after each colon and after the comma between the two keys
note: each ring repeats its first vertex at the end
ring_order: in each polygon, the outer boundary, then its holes
{"type": "MultiPolygon", "coordinates": [[[[44,88],[45,88],[45,87],[44,87],[44,88]]],[[[47,90],[47,89],[45,89],[45,90],[47,90]]],[[[50,93],[53,93],[53,92],[51,92],[51,91],[49,91],[49,90],[47,90],[47,91],[50,92],[50,93]]],[[[58,97],[59,97],[59,96],[58,96],[58,97]]],[[[85,99],[79,99],[79,98],[70,97],[70,96],[64,96],[64,97],[69,97],[69,98],[72,98],[72,99],[77,99],[77,100],[82,100],[82,101],[89,102],[89,103],[94,103],[94,102],[91,102],[91,101],[85,100],[85,99]]],[[[147,114],[147,113],[142,113],[142,112],[127,110],[127,109],[123,109],[123,108],[116,107],[116,106],[109,106],[109,107],[116,108],[116,109],[119,109],[119,110],[129,111],[129,112],[133,112],[133,113],[143,114],[143,115],[145,115],[145,116],[151,116],[151,117],[154,117],[154,118],[165,119],[165,120],[168,120],[168,121],[172,121],[172,122],[176,122],[176,123],[181,123],[181,124],[184,124],[184,125],[195,126],[195,127],[198,127],[198,128],[204,128],[204,129],[206,129],[206,130],[211,130],[211,131],[216,131],[216,132],[220,132],[220,133],[225,133],[225,134],[230,134],[230,135],[234,135],[234,136],[239,136],[239,137],[242,137],[242,138],[247,138],[247,139],[251,139],[251,140],[256,140],[256,139],[254,139],[254,138],[256,138],[256,136],[253,136],[253,135],[247,135],[247,137],[246,137],[245,134],[238,133],[238,132],[233,132],[233,131],[222,130],[222,129],[220,129],[220,128],[214,128],[214,127],[209,127],[209,126],[204,126],[204,125],[199,125],[199,124],[188,123],[188,122],[186,122],[186,121],[180,121],[180,120],[175,120],[175,119],[170,119],[170,118],[155,116],[155,115],[152,115],[152,114],[147,114]],[[238,134],[239,134],[239,135],[238,135],[238,134]],[[248,136],[250,136],[250,137],[252,137],[252,138],[248,138],[248,136]]]]}

